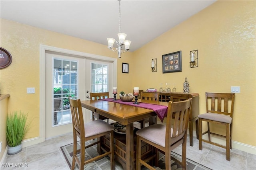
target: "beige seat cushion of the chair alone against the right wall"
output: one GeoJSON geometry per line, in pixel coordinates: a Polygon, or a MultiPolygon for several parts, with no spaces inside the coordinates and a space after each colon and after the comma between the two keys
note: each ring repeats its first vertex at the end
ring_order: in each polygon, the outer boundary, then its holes
{"type": "Polygon", "coordinates": [[[218,113],[204,113],[204,114],[198,115],[198,118],[219,121],[219,122],[223,122],[223,123],[231,123],[232,122],[232,118],[230,116],[218,114],[218,113]]]}

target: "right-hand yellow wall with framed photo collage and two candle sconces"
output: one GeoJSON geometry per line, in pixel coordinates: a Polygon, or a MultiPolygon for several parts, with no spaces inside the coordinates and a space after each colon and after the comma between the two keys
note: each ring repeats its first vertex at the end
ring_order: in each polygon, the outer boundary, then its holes
{"type": "MultiPolygon", "coordinates": [[[[205,92],[230,92],[240,86],[234,107],[233,140],[256,146],[256,1],[218,1],[134,52],[133,86],[170,88],[199,93],[200,113],[205,92]],[[198,50],[198,67],[190,68],[190,51],[198,50]],[[182,72],[162,74],[162,55],[182,51],[182,72]],[[157,58],[157,72],[150,62],[157,58]]],[[[224,131],[223,131],[224,132],[224,131]]]]}

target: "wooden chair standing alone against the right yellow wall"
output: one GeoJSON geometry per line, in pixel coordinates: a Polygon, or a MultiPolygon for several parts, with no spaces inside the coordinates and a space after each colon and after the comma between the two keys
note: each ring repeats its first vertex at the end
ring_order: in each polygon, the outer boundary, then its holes
{"type": "Polygon", "coordinates": [[[199,149],[202,150],[202,141],[226,149],[226,160],[230,161],[230,149],[232,149],[232,121],[234,114],[235,93],[205,93],[206,113],[198,115],[199,149]],[[202,121],[207,122],[208,130],[202,133],[202,121]],[[226,135],[210,132],[210,123],[224,125],[226,135]],[[208,141],[202,139],[202,135],[208,134],[208,141]],[[226,138],[226,146],[211,141],[210,135],[226,138]]]}

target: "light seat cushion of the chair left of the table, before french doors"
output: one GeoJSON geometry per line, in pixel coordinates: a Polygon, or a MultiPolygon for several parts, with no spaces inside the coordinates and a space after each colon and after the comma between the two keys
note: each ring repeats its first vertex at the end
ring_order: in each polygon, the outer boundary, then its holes
{"type": "Polygon", "coordinates": [[[113,131],[114,127],[103,120],[94,120],[84,123],[85,137],[98,135],[107,131],[113,131]]]}

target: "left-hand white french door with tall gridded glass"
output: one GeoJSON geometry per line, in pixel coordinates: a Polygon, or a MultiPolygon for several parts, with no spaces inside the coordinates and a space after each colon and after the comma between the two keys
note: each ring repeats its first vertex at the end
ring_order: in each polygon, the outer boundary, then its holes
{"type": "Polygon", "coordinates": [[[68,96],[84,98],[85,58],[46,52],[45,138],[72,132],[68,96]]]}

